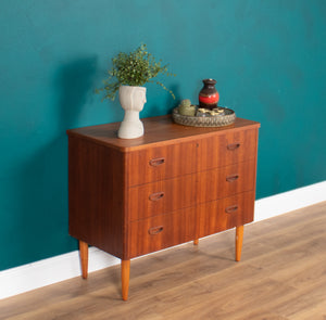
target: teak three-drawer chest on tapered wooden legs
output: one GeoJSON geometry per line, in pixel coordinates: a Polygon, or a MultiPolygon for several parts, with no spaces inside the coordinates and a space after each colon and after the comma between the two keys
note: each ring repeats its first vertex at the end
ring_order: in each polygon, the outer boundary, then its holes
{"type": "Polygon", "coordinates": [[[259,123],[193,128],[170,116],[142,119],[145,136],[116,138],[118,124],[68,130],[70,234],[122,259],[127,299],[130,259],[253,220],[259,123]]]}

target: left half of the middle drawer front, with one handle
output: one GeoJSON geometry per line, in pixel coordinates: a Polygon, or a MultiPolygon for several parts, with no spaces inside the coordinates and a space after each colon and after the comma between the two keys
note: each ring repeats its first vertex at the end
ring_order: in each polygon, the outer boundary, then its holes
{"type": "Polygon", "coordinates": [[[129,188],[128,199],[129,220],[192,206],[196,204],[196,175],[129,188]]]}

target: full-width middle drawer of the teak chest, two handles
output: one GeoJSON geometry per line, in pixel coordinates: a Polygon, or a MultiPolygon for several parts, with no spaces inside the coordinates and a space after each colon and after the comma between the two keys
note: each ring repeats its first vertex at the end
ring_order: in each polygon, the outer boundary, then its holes
{"type": "Polygon", "coordinates": [[[128,190],[128,217],[138,220],[254,189],[255,163],[249,161],[128,190]]]}

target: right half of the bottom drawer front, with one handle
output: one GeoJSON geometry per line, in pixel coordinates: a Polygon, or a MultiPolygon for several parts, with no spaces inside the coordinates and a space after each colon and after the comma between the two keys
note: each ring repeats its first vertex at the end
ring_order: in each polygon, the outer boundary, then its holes
{"type": "Polygon", "coordinates": [[[254,191],[198,206],[199,238],[253,221],[254,191]]]}

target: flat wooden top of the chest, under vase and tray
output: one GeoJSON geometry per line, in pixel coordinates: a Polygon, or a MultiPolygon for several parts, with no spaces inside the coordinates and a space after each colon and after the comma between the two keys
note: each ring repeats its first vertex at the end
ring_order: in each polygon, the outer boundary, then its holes
{"type": "Polygon", "coordinates": [[[260,124],[243,118],[237,118],[235,124],[227,127],[197,128],[173,123],[170,115],[141,119],[145,135],[136,139],[120,139],[117,130],[121,123],[83,127],[67,130],[70,137],[91,140],[95,143],[117,149],[122,152],[147,148],[163,143],[177,143],[196,138],[227,133],[229,130],[244,130],[259,128],[260,124]]]}

